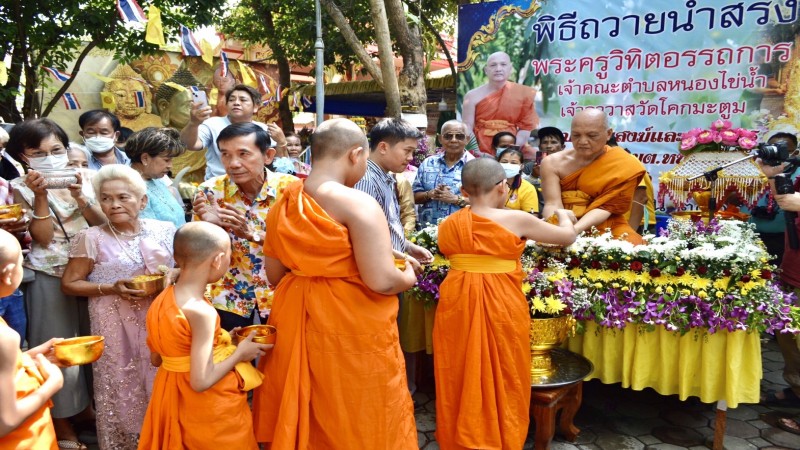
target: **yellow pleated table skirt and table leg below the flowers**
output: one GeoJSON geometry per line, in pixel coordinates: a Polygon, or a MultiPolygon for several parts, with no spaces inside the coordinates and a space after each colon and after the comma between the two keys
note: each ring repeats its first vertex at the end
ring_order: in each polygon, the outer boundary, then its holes
{"type": "Polygon", "coordinates": [[[570,338],[567,348],[594,364],[589,378],[634,390],[649,387],[681,400],[696,396],[705,403],[716,402],[715,449],[723,448],[727,406],[759,402],[758,333],[697,330],[681,336],[660,326],[646,331],[627,324],[618,330],[586,322],[585,333],[570,338]]]}

